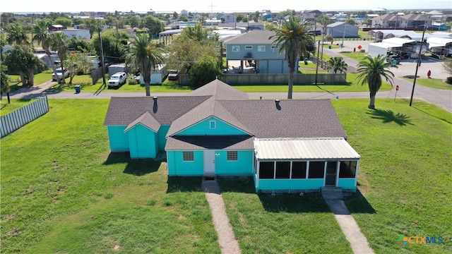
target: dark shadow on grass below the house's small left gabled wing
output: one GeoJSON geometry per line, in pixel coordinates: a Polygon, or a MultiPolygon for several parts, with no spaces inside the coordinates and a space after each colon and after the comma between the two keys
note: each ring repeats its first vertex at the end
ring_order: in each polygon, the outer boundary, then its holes
{"type": "Polygon", "coordinates": [[[104,165],[126,163],[124,174],[144,176],[156,172],[162,162],[155,159],[131,159],[129,152],[110,152],[104,165]]]}

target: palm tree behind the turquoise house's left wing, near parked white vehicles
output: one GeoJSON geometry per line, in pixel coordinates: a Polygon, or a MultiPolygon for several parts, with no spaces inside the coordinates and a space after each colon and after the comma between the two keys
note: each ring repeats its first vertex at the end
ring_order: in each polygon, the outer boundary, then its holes
{"type": "Polygon", "coordinates": [[[143,75],[146,96],[150,96],[150,73],[164,61],[163,49],[157,47],[150,39],[150,35],[134,35],[134,42],[126,49],[126,63],[133,63],[143,75]]]}

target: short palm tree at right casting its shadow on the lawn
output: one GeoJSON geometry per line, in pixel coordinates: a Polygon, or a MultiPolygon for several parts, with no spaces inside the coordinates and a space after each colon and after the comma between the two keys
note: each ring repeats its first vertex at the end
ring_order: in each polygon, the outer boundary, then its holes
{"type": "MultiPolygon", "coordinates": [[[[389,71],[391,63],[386,62],[387,56],[366,56],[359,61],[357,68],[357,80],[361,85],[368,84],[370,92],[369,109],[375,109],[375,95],[381,87],[381,76],[393,85],[394,73],[389,71]]],[[[397,66],[396,66],[397,68],[397,66]]]]}

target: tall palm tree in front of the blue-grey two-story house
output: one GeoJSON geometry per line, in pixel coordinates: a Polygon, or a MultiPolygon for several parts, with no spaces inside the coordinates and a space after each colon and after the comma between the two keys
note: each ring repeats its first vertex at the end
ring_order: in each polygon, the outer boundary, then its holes
{"type": "Polygon", "coordinates": [[[307,32],[309,23],[301,23],[300,18],[290,17],[281,27],[274,28],[275,35],[268,39],[275,39],[273,45],[275,49],[279,47],[279,53],[285,54],[285,59],[289,65],[289,91],[287,99],[292,99],[292,89],[294,84],[295,66],[298,66],[299,56],[307,53],[307,46],[314,44],[311,35],[307,32]]]}

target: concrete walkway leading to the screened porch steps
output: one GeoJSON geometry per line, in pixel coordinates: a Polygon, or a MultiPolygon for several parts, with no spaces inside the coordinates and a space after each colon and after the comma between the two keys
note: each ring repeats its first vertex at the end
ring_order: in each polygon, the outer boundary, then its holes
{"type": "Polygon", "coordinates": [[[367,238],[359,231],[359,226],[353,219],[350,212],[345,207],[343,200],[331,200],[326,199],[326,203],[329,205],[334,217],[338,221],[340,229],[345,234],[345,238],[350,242],[353,253],[355,254],[372,254],[372,250],[367,243],[367,238]]]}

